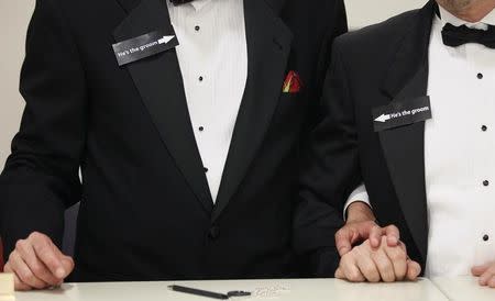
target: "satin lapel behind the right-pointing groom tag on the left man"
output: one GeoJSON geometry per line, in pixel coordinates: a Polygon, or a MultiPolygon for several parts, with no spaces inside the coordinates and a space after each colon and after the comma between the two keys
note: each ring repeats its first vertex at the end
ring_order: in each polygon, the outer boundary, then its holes
{"type": "MultiPolygon", "coordinates": [[[[114,30],[117,42],[156,30],[174,34],[165,0],[119,0],[130,11],[114,30]]],[[[117,64],[117,62],[116,62],[117,64]]],[[[183,77],[175,49],[123,66],[135,87],[169,154],[208,213],[213,202],[187,109],[183,77]]]]}

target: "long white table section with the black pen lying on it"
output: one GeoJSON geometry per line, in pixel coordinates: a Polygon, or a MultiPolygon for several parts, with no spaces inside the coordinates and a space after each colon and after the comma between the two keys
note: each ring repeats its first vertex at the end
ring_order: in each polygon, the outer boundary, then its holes
{"type": "MultiPolygon", "coordinates": [[[[305,280],[241,280],[188,282],[107,282],[66,283],[52,291],[16,292],[16,301],[208,301],[207,299],[174,292],[169,285],[183,285],[216,292],[246,290],[250,298],[231,300],[277,301],[447,301],[443,293],[429,280],[400,283],[349,283],[334,279],[305,280]]],[[[472,299],[471,301],[474,301],[472,299]]],[[[492,300],[493,301],[493,300],[492,300]]]]}

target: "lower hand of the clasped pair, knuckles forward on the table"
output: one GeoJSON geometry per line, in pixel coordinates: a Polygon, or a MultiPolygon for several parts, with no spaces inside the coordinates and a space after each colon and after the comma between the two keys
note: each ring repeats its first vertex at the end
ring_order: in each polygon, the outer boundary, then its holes
{"type": "Polygon", "coordinates": [[[378,248],[372,247],[371,242],[366,241],[345,254],[340,260],[336,278],[351,282],[416,280],[421,272],[419,264],[408,258],[403,243],[391,247],[386,239],[383,236],[378,248]]]}

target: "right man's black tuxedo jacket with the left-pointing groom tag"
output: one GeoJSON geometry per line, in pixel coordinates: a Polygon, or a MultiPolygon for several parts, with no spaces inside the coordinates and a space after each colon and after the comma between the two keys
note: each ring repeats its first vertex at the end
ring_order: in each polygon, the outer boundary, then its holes
{"type": "MultiPolygon", "coordinates": [[[[304,237],[312,237],[306,246],[330,247],[324,237],[334,235],[345,199],[364,181],[378,223],[396,224],[409,255],[425,267],[425,122],[375,132],[372,112],[426,96],[433,14],[430,1],[336,41],[323,89],[327,118],[314,134],[312,160],[302,172],[300,205],[320,208],[298,220],[304,237]]],[[[333,275],[328,265],[320,271],[333,275]]]]}

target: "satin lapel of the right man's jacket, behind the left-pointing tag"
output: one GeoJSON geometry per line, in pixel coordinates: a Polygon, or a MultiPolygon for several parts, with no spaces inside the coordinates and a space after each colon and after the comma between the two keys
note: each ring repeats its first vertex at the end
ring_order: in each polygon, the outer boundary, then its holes
{"type": "MultiPolygon", "coordinates": [[[[385,80],[384,92],[392,101],[426,96],[428,48],[433,5],[418,11],[417,24],[404,37],[385,80]]],[[[426,260],[428,211],[425,182],[425,122],[380,132],[380,141],[405,219],[426,260]]]]}

